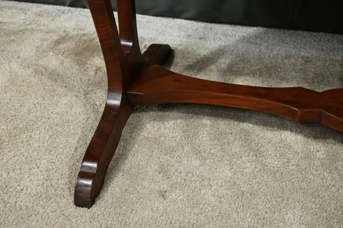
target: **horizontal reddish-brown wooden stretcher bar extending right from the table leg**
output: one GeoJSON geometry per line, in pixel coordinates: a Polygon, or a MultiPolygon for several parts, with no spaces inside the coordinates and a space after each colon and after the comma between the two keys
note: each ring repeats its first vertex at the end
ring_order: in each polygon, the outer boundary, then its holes
{"type": "Polygon", "coordinates": [[[142,68],[126,92],[132,105],[206,103],[268,112],[297,122],[319,122],[343,131],[343,88],[265,88],[187,77],[162,66],[142,68]]]}

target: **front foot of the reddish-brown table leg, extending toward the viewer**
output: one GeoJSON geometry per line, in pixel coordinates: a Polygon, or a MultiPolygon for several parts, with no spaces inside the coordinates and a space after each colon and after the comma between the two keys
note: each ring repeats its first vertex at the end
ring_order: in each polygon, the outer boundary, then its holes
{"type": "Polygon", "coordinates": [[[121,131],[131,113],[125,103],[119,110],[106,103],[104,114],[82,160],[74,201],[79,207],[91,207],[104,183],[106,171],[115,153],[121,131]]]}

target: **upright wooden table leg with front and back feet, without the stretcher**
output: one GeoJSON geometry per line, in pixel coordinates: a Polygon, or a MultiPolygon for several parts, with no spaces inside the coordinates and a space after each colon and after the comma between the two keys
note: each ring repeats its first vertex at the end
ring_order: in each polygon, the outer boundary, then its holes
{"type": "Polygon", "coordinates": [[[108,76],[108,97],[102,118],[84,154],[75,186],[74,201],[91,207],[102,188],[110,160],[132,105],[126,90],[143,64],[161,64],[170,51],[168,45],[151,45],[143,55],[139,49],[134,1],[118,0],[119,31],[109,0],[89,0],[97,36],[102,47],[108,76]]]}

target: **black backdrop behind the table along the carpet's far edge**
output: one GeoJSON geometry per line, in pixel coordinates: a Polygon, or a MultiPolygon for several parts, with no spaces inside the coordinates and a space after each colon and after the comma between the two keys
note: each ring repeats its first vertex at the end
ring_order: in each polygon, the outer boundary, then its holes
{"type": "MultiPolygon", "coordinates": [[[[86,0],[23,1],[88,7],[86,0]]],[[[343,34],[343,0],[137,0],[136,8],[154,16],[343,34]]]]}

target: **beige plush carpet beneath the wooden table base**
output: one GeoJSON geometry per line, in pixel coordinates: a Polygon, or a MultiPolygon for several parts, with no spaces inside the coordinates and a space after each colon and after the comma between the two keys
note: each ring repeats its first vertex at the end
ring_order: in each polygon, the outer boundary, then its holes
{"type": "MultiPolygon", "coordinates": [[[[138,16],[166,67],[343,87],[343,36],[138,16]]],[[[343,227],[343,134],[250,110],[138,107],[90,209],[73,205],[106,101],[88,10],[0,1],[0,227],[343,227]]]]}

